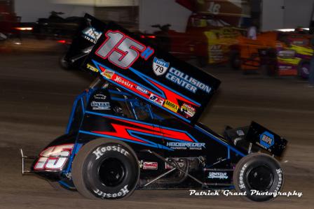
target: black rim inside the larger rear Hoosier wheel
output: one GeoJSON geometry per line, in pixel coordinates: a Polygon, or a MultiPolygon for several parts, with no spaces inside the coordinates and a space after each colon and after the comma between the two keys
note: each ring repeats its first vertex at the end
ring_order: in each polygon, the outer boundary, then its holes
{"type": "Polygon", "coordinates": [[[105,187],[116,187],[125,178],[125,168],[122,161],[116,158],[107,158],[98,168],[98,177],[105,187]]]}

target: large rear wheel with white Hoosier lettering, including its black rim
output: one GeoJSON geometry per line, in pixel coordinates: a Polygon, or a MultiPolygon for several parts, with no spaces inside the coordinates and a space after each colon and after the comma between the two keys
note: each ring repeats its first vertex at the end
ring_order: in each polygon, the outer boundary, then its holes
{"type": "Polygon", "coordinates": [[[122,199],[139,182],[139,163],[127,144],[99,138],[79,150],[71,174],[78,192],[88,199],[122,199]]]}

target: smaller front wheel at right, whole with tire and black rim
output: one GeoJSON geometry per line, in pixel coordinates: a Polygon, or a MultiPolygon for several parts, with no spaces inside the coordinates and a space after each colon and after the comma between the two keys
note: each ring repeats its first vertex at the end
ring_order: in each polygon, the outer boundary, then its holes
{"type": "Polygon", "coordinates": [[[268,154],[249,154],[238,162],[233,172],[237,192],[251,201],[269,201],[280,192],[284,182],[279,162],[268,154]]]}

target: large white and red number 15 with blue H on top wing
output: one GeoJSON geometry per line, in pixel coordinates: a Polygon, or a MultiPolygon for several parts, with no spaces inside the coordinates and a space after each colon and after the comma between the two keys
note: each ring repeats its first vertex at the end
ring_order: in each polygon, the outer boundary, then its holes
{"type": "Polygon", "coordinates": [[[121,31],[107,31],[107,39],[95,52],[96,55],[118,66],[128,69],[140,57],[149,59],[154,50],[126,36],[121,31]]]}

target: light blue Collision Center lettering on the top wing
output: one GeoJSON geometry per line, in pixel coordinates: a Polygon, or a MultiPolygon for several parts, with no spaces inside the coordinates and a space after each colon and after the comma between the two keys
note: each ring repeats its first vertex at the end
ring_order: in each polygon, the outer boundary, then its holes
{"type": "Polygon", "coordinates": [[[194,94],[198,89],[209,94],[212,89],[210,86],[205,85],[205,83],[200,82],[199,80],[196,80],[190,75],[187,75],[186,73],[183,73],[182,71],[179,71],[173,67],[170,68],[169,72],[165,75],[165,78],[181,87],[184,87],[185,89],[188,89],[194,94]]]}

